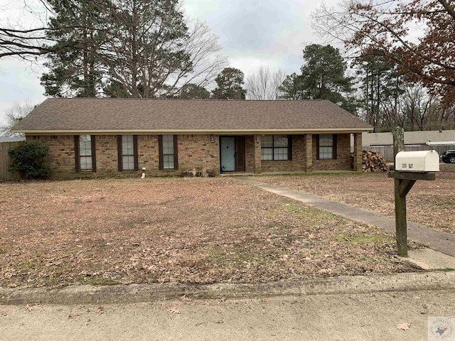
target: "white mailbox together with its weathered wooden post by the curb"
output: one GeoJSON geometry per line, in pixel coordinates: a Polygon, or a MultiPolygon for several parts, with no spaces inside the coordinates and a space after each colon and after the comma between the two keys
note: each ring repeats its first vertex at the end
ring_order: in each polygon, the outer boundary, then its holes
{"type": "Polygon", "coordinates": [[[439,171],[439,154],[436,151],[400,153],[405,149],[404,130],[397,127],[393,129],[392,134],[395,171],[390,171],[388,176],[395,179],[395,228],[398,256],[407,256],[406,195],[417,180],[436,180],[434,172],[439,171]],[[431,155],[431,159],[434,161],[437,157],[437,165],[434,162],[427,165],[424,160],[418,159],[426,156],[426,152],[436,154],[431,155]],[[402,158],[397,158],[399,153],[402,154],[402,158]],[[413,158],[416,164],[412,161],[413,158]]]}

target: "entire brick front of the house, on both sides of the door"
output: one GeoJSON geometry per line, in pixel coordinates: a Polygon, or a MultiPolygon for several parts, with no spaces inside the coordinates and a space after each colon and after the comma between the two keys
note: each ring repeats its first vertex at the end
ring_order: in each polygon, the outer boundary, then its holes
{"type": "MultiPolygon", "coordinates": [[[[118,171],[116,135],[97,135],[96,172],[75,172],[74,136],[26,136],[27,140],[38,140],[49,147],[46,161],[52,170],[52,178],[102,178],[181,175],[193,168],[205,168],[215,175],[220,173],[220,136],[178,135],[178,169],[159,170],[158,135],[138,135],[138,171],[118,171]],[[145,168],[145,170],[143,170],[145,168]]],[[[273,171],[333,171],[350,170],[350,134],[339,134],[336,160],[316,160],[316,135],[292,136],[292,160],[261,161],[261,136],[245,136],[245,171],[263,173],[273,171]],[[309,151],[311,150],[311,155],[309,151]],[[309,164],[311,163],[311,164],[309,164]]],[[[361,140],[356,141],[361,144],[361,140]]]]}

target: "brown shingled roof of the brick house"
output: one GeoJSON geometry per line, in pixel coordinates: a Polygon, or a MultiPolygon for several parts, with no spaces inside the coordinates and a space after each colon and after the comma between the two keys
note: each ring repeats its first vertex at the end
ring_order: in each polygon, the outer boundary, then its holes
{"type": "Polygon", "coordinates": [[[12,130],[28,134],[258,134],[371,129],[327,100],[50,98],[12,130]]]}

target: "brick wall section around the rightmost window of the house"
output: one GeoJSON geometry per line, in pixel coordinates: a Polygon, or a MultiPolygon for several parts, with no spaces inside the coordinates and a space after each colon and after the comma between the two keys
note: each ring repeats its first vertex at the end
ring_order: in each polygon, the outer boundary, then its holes
{"type": "Polygon", "coordinates": [[[350,134],[338,134],[335,160],[316,160],[316,135],[313,136],[313,171],[350,171],[350,134]]]}

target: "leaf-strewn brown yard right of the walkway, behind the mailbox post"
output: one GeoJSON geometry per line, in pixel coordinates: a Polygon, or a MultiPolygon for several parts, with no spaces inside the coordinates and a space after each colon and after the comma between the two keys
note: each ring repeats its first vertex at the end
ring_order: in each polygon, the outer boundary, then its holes
{"type": "MultiPolygon", "coordinates": [[[[395,217],[394,180],[387,173],[260,176],[256,180],[395,217]]],[[[437,173],[435,181],[417,181],[407,195],[407,219],[455,233],[455,173],[437,173]]]]}

